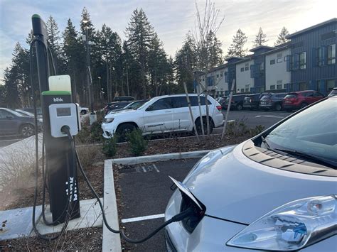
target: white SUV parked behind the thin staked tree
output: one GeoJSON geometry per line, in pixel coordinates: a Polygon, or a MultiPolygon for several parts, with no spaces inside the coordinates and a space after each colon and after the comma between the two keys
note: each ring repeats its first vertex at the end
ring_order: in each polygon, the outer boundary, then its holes
{"type": "MultiPolygon", "coordinates": [[[[200,113],[198,97],[188,94],[193,111],[193,119],[200,133],[200,113]]],[[[203,124],[206,125],[205,97],[200,96],[203,124]]],[[[221,106],[212,97],[208,97],[210,130],[223,125],[221,106]]],[[[120,111],[107,114],[102,123],[103,136],[110,138],[117,133],[123,137],[134,128],[139,128],[144,135],[151,133],[164,133],[173,131],[193,131],[191,116],[188,111],[185,94],[164,95],[154,97],[136,110],[120,111]]]]}

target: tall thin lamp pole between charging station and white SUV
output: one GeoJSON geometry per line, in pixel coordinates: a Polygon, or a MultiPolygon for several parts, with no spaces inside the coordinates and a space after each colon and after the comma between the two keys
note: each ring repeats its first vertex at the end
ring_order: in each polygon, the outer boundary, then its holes
{"type": "MultiPolygon", "coordinates": [[[[83,23],[87,23],[87,20],[82,20],[83,23]]],[[[90,43],[89,41],[89,27],[85,26],[85,50],[87,51],[87,89],[89,92],[89,103],[90,103],[90,125],[92,125],[95,121],[97,121],[97,115],[94,111],[94,94],[92,90],[92,77],[90,71],[90,43]]]]}

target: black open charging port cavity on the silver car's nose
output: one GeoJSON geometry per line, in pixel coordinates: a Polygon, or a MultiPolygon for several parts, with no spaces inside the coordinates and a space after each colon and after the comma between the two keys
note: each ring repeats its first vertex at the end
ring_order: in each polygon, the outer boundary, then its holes
{"type": "Polygon", "coordinates": [[[203,204],[200,205],[203,207],[203,210],[200,210],[200,208],[196,205],[196,203],[193,202],[192,199],[187,197],[185,194],[182,193],[183,199],[181,201],[181,212],[185,211],[189,207],[193,207],[195,210],[193,212],[193,215],[191,217],[187,217],[183,219],[182,224],[183,227],[189,232],[192,233],[194,229],[196,229],[196,226],[198,226],[198,223],[203,219],[203,216],[205,215],[205,207],[203,204]]]}

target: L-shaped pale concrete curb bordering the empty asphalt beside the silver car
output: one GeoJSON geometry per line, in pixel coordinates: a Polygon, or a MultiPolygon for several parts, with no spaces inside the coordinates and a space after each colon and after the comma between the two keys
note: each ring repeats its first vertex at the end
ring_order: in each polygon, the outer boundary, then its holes
{"type": "MultiPolygon", "coordinates": [[[[161,155],[146,155],[143,157],[107,159],[104,165],[104,208],[105,216],[109,225],[119,230],[119,220],[117,211],[116,192],[114,190],[114,172],[112,164],[136,165],[139,163],[148,163],[164,160],[202,158],[210,150],[198,150],[184,153],[169,153],[161,155]]],[[[103,224],[102,251],[122,251],[122,244],[119,234],[114,234],[103,224]]]]}

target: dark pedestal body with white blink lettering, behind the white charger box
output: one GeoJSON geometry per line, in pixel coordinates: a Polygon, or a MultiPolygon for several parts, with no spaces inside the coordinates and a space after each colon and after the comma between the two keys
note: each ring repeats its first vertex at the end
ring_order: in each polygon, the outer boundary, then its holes
{"type": "MultiPolygon", "coordinates": [[[[71,194],[73,199],[70,200],[71,216],[70,219],[80,217],[80,199],[78,195],[77,166],[76,157],[72,155],[71,145],[68,137],[54,138],[50,133],[50,113],[49,106],[53,104],[70,104],[72,103],[71,92],[67,91],[44,91],[41,93],[43,107],[43,124],[44,138],[46,142],[46,172],[48,176],[48,189],[50,198],[50,211],[53,215],[53,221],[63,223],[68,218],[65,212],[67,201],[71,194]],[[45,119],[46,118],[46,119],[45,119]],[[68,170],[70,172],[68,177],[68,170]],[[68,192],[70,185],[70,192],[68,192]]],[[[74,104],[75,105],[75,104],[74,104]]]]}

